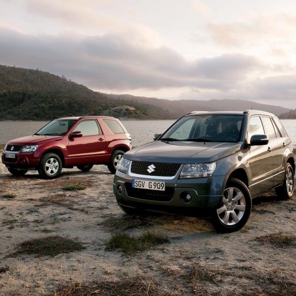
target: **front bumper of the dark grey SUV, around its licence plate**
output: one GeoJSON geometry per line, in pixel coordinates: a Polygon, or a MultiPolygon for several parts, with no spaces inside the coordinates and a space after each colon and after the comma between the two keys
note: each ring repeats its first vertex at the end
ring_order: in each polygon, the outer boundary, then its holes
{"type": "MultiPolygon", "coordinates": [[[[117,202],[126,207],[168,212],[215,209],[222,200],[224,178],[225,176],[212,176],[165,180],[164,192],[132,188],[132,177],[117,171],[113,180],[113,192],[117,202]],[[189,201],[185,199],[187,194],[192,197],[189,201]]],[[[151,178],[147,180],[151,181],[151,178]]],[[[164,181],[157,177],[153,180],[164,181]]]]}

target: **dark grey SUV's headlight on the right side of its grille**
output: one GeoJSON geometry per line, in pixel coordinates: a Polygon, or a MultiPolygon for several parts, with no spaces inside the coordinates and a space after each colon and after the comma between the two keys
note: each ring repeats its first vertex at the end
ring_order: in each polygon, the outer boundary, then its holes
{"type": "Polygon", "coordinates": [[[182,178],[210,177],[216,168],[216,163],[208,164],[185,164],[180,174],[182,178]]]}

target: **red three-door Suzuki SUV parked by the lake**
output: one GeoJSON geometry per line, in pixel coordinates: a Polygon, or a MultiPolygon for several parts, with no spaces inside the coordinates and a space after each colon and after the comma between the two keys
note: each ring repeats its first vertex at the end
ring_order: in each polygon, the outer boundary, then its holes
{"type": "Polygon", "coordinates": [[[130,134],[114,117],[67,117],[49,122],[34,135],[9,141],[1,157],[13,175],[37,169],[42,178],[53,179],[62,167],[88,171],[94,164],[106,164],[114,173],[131,148],[130,134]]]}

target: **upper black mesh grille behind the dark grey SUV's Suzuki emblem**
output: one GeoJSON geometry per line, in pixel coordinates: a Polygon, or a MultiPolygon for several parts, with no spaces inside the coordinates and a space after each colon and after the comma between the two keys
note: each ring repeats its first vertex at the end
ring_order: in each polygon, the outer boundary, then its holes
{"type": "Polygon", "coordinates": [[[138,175],[173,177],[177,174],[181,164],[132,162],[131,172],[138,175]],[[152,169],[149,169],[149,166],[152,169]],[[150,171],[150,173],[148,172],[150,171]]]}

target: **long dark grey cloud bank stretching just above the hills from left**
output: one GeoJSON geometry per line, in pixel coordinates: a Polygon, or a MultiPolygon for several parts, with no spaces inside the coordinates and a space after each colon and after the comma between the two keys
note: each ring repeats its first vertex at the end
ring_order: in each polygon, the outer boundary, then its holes
{"type": "Polygon", "coordinates": [[[95,89],[233,88],[260,63],[244,55],[186,61],[118,35],[49,36],[0,30],[0,64],[39,68],[95,89]]]}

